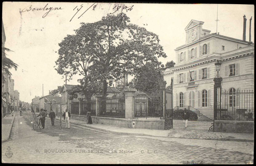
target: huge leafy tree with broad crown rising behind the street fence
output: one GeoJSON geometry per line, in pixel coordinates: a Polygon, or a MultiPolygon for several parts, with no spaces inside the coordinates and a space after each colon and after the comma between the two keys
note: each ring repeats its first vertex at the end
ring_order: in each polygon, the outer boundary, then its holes
{"type": "Polygon", "coordinates": [[[89,77],[100,81],[103,98],[107,86],[122,79],[122,73],[133,75],[146,63],[159,66],[157,58],[166,57],[159,37],[131,24],[125,13],[81,24],[76,35],[68,35],[59,44],[57,71],[62,75],[83,75],[84,86],[89,77]]]}

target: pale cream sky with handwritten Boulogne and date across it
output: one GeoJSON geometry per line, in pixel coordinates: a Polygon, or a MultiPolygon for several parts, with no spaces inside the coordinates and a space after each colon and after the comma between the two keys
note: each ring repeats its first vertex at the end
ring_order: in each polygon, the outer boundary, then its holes
{"type": "MultiPolygon", "coordinates": [[[[124,12],[131,23],[159,35],[160,44],[167,55],[167,58],[159,58],[163,64],[176,61],[174,49],[185,44],[185,27],[191,19],[203,21],[203,29],[216,33],[217,4],[3,2],[5,47],[14,51],[7,53],[8,58],[19,65],[17,71],[11,70],[11,73],[20,100],[31,103],[35,95],[48,95],[49,90],[65,84],[65,78],[54,70],[59,56],[58,44],[67,35],[75,34],[74,29],[80,27],[80,22],[96,22],[113,12],[124,12]],[[118,10],[114,8],[117,5],[121,5],[118,10]],[[51,11],[36,10],[51,7],[51,11]]],[[[247,18],[246,40],[249,41],[249,19],[254,16],[253,5],[218,4],[220,21],[217,32],[242,39],[244,15],[247,18]]],[[[254,18],[251,22],[251,40],[254,43],[254,18]]],[[[79,78],[74,76],[67,84],[77,85],[79,78]]]]}

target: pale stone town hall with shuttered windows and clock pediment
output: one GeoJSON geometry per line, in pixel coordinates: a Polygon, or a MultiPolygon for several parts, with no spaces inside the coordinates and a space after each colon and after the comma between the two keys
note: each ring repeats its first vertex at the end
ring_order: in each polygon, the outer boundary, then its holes
{"type": "Polygon", "coordinates": [[[164,80],[169,85],[173,78],[173,107],[190,105],[213,119],[214,63],[222,63],[223,90],[254,90],[254,43],[210,34],[203,24],[189,22],[186,43],[175,49],[176,65],[165,70],[164,80]]]}

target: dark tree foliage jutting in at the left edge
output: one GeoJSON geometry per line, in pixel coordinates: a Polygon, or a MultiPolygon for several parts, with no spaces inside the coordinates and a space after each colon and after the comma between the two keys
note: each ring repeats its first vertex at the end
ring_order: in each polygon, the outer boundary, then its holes
{"type": "Polygon", "coordinates": [[[6,52],[13,52],[12,50],[2,47],[2,85],[6,83],[6,79],[11,77],[10,69],[14,68],[17,70],[18,65],[14,63],[11,59],[7,58],[6,52]]]}

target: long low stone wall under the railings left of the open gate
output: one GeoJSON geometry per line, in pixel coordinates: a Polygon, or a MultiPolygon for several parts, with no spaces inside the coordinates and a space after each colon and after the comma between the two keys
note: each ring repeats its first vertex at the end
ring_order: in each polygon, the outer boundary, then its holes
{"type": "MultiPolygon", "coordinates": [[[[86,116],[82,115],[71,115],[71,118],[86,121],[86,116]]],[[[125,128],[164,130],[164,120],[161,119],[122,119],[92,116],[92,120],[93,123],[108,124],[125,128]]]]}

